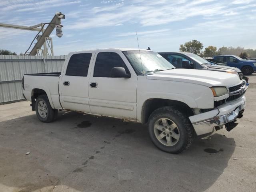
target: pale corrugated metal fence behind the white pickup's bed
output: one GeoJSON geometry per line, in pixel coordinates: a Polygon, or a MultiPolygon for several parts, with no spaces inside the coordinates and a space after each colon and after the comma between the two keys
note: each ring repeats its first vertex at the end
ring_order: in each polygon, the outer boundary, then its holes
{"type": "Polygon", "coordinates": [[[0,104],[24,99],[21,84],[24,74],[61,72],[65,58],[0,55],[0,104]]]}

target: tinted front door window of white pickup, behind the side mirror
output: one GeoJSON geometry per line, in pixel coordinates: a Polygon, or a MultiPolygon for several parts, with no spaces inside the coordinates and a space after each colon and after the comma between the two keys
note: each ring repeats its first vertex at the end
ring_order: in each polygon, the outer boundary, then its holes
{"type": "Polygon", "coordinates": [[[101,52],[98,53],[95,66],[94,77],[111,77],[111,70],[114,67],[123,67],[126,73],[129,73],[128,68],[124,64],[124,61],[114,52],[101,52]]]}

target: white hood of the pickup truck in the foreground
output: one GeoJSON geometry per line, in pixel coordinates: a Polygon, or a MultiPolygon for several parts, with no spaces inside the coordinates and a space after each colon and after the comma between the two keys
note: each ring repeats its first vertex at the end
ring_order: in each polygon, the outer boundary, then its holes
{"type": "Polygon", "coordinates": [[[164,70],[148,75],[146,78],[152,80],[187,82],[208,87],[230,87],[241,82],[236,74],[197,69],[164,70]]]}

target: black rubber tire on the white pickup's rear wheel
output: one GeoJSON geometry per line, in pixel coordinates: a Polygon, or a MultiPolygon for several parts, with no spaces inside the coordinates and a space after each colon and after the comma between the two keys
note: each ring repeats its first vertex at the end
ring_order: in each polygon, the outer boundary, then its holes
{"type": "Polygon", "coordinates": [[[54,121],[57,116],[58,116],[58,110],[57,109],[53,109],[52,106],[50,105],[50,102],[48,100],[48,97],[46,95],[40,95],[38,96],[38,98],[36,99],[36,115],[38,117],[38,119],[44,123],[50,123],[52,121],[54,121]],[[44,115],[40,115],[42,114],[40,110],[40,104],[45,104],[46,106],[46,113],[44,113],[44,115]]]}

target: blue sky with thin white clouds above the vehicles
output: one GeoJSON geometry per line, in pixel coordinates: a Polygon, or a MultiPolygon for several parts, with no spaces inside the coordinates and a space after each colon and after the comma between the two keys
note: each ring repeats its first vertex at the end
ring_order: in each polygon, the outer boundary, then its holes
{"type": "MultiPolygon", "coordinates": [[[[54,55],[98,48],[178,51],[196,39],[256,49],[256,0],[0,0],[0,23],[33,26],[65,14],[54,55]]],[[[0,28],[0,49],[25,52],[37,32],[0,28]]]]}

